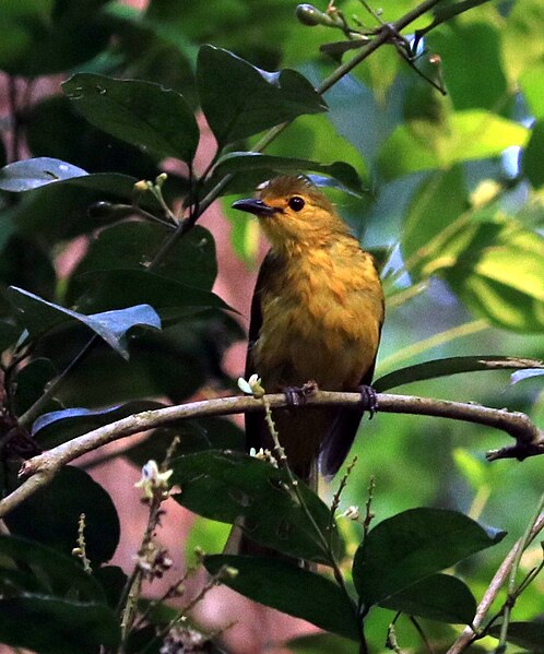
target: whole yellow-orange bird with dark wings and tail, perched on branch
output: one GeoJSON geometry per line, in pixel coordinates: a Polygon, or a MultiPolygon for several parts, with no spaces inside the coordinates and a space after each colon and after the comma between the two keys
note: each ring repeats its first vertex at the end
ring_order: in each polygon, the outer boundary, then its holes
{"type": "MultiPolygon", "coordinates": [[[[368,389],[385,317],[372,255],[308,177],[280,176],[234,209],[258,217],[270,242],[251,302],[246,378],[268,393],[307,382],[320,390],[368,389]]],[[[287,397],[296,397],[296,393],[287,397]]],[[[291,469],[315,490],[348,454],[363,408],[274,409],[291,469]]],[[[262,413],[246,415],[248,450],[273,450],[262,413]]]]}

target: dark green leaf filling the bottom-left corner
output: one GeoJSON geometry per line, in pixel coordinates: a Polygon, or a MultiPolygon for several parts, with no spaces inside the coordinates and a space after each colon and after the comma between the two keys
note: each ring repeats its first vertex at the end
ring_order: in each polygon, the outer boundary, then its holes
{"type": "Polygon", "coordinates": [[[116,650],[120,629],[104,604],[25,594],[0,599],[0,641],[40,654],[95,654],[116,650]]]}

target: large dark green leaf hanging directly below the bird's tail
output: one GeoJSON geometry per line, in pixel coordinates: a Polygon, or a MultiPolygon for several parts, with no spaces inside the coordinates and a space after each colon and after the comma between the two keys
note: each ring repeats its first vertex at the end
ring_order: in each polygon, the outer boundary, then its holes
{"type": "MultiPolygon", "coordinates": [[[[228,450],[181,456],[173,461],[172,468],[172,481],[184,489],[175,499],[190,511],[221,522],[241,522],[257,543],[330,564],[285,471],[228,450]]],[[[330,509],[305,484],[299,481],[298,487],[314,521],[338,554],[341,543],[334,522],[333,530],[329,527],[330,509]]]]}

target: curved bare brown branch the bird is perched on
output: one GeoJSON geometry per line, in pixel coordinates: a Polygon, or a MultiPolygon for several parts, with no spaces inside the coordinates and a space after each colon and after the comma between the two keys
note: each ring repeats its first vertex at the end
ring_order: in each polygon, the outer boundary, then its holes
{"type": "MultiPolygon", "coordinates": [[[[271,408],[287,406],[283,393],[265,395],[265,399],[271,408]]],[[[516,439],[515,445],[488,452],[487,459],[489,461],[508,457],[521,461],[528,456],[544,453],[544,430],[539,429],[522,413],[510,413],[504,408],[490,408],[478,404],[465,404],[414,395],[378,393],[377,400],[381,413],[426,415],[464,420],[500,429],[516,439]]],[[[358,393],[316,391],[306,399],[304,406],[299,409],[304,411],[306,406],[356,407],[362,404],[365,408],[368,408],[365,403],[366,401],[358,393]]],[[[38,488],[48,484],[62,466],[106,443],[141,431],[174,425],[179,420],[250,413],[263,411],[263,408],[262,399],[247,396],[220,397],[142,412],[94,429],[25,461],[21,467],[20,476],[29,478],[0,501],[0,518],[17,507],[38,488]]]]}

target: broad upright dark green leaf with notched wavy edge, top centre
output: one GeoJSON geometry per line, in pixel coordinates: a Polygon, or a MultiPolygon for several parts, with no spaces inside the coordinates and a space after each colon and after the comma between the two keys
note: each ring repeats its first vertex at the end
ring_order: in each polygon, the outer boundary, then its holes
{"type": "Polygon", "coordinates": [[[199,51],[197,83],[202,109],[220,148],[301,114],[318,114],[327,108],[299,73],[270,73],[228,50],[208,45],[199,51]]]}

